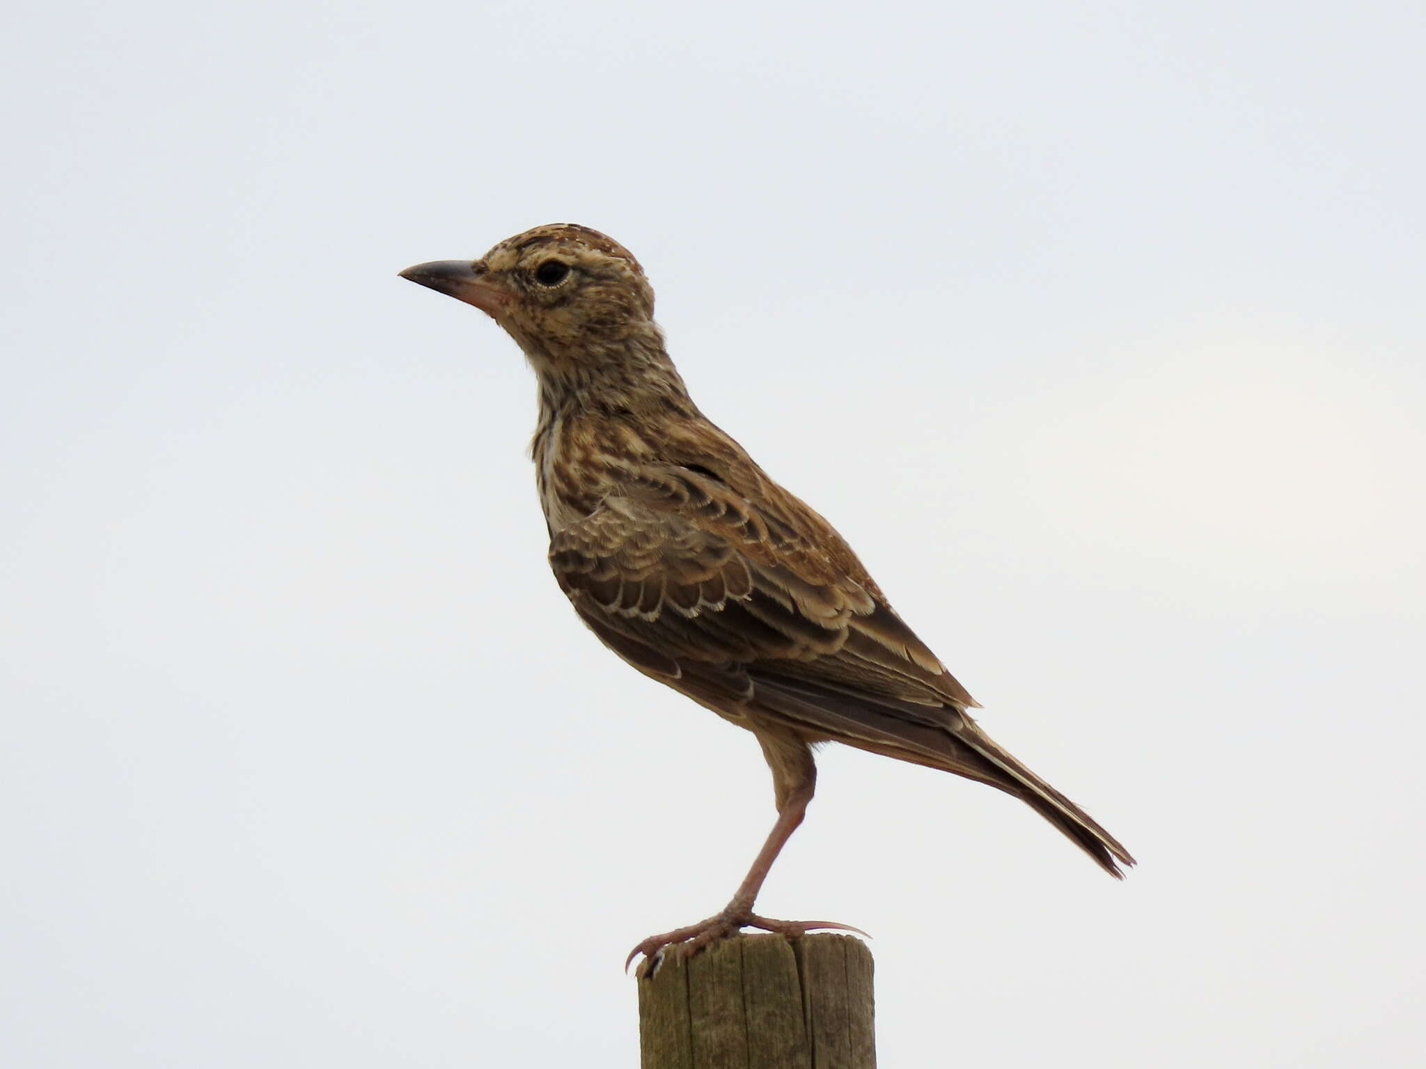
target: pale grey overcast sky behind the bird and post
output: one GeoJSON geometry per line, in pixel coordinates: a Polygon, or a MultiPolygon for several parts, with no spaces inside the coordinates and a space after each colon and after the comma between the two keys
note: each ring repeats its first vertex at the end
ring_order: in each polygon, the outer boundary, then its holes
{"type": "Polygon", "coordinates": [[[395,275],[553,221],[1139,857],[824,751],[760,905],[876,936],[883,1065],[1419,1065],[1419,3],[6,21],[6,1065],[636,1063],[769,775],[395,275]]]}

